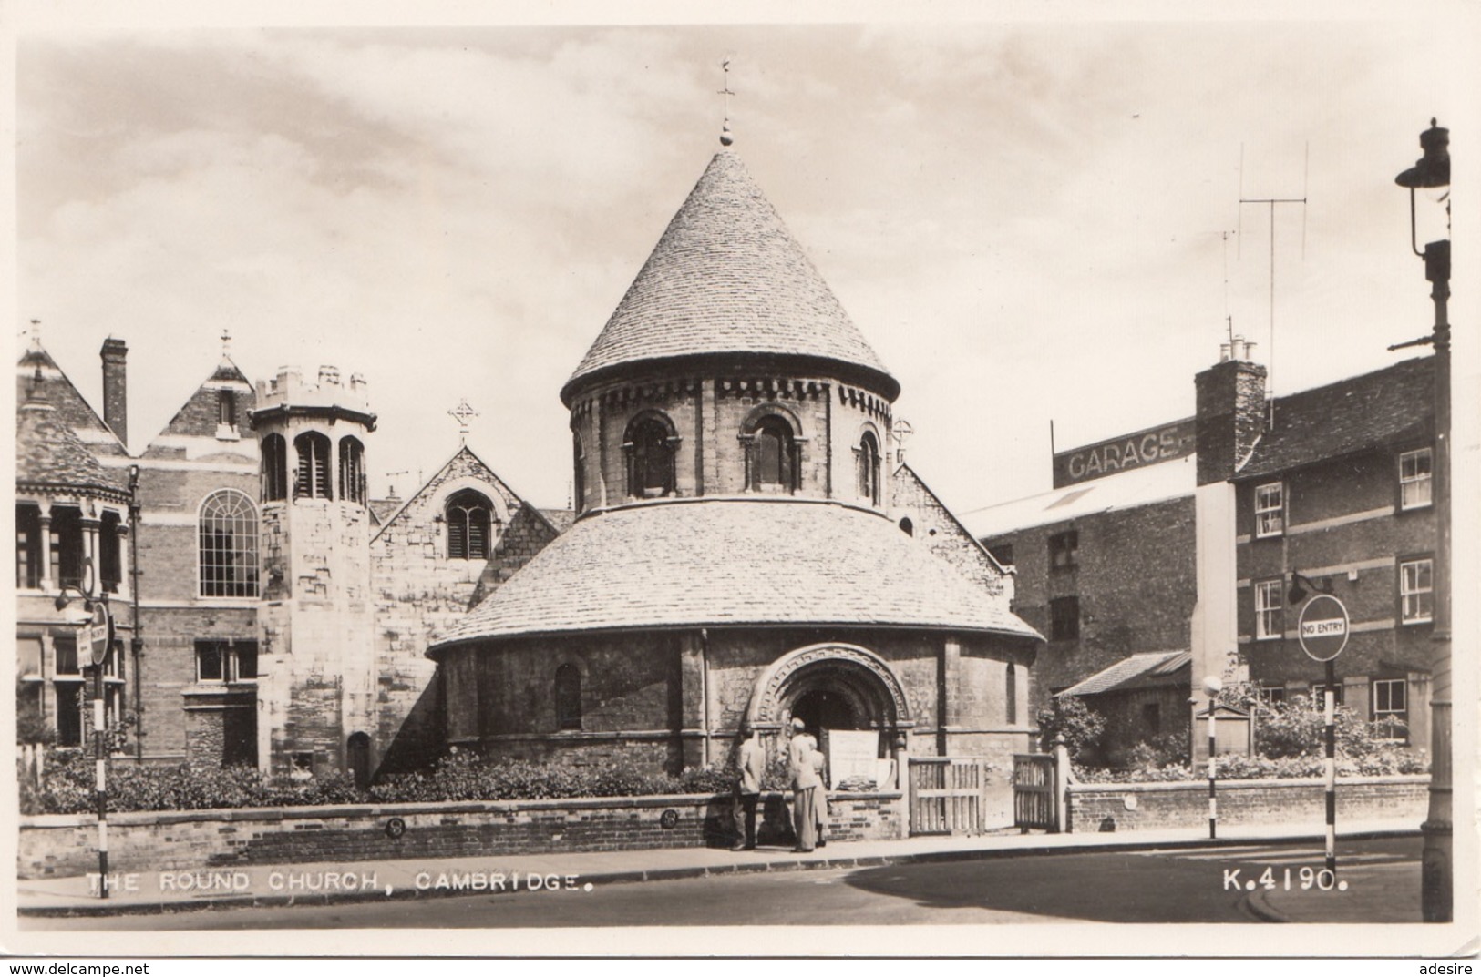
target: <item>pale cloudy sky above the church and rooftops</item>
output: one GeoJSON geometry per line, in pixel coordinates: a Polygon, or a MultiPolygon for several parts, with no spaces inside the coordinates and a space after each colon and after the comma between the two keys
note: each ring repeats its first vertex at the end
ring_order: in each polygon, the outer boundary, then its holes
{"type": "MultiPolygon", "coordinates": [[[[1191,416],[1231,321],[1277,394],[1416,355],[1386,349],[1432,323],[1394,176],[1431,117],[1481,157],[1462,3],[139,9],[10,6],[16,355],[40,320],[101,409],[98,349],[123,338],[135,453],[224,332],[255,380],[361,373],[375,494],[452,456],[467,400],[478,454],[567,503],[558,389],[718,150],[723,59],[735,150],[900,380],[908,460],[958,512],[1047,490],[1052,422],[1063,450],[1191,416]],[[1305,203],[1241,204],[1272,197],[1305,203]]],[[[1451,321],[1474,321],[1459,265],[1451,321]]]]}

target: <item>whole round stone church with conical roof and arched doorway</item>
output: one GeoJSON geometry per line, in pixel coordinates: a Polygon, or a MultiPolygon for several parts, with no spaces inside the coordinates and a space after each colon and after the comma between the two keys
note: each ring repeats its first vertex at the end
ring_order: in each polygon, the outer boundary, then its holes
{"type": "Polygon", "coordinates": [[[560,395],[578,518],[428,650],[450,745],[677,771],[800,718],[880,759],[1028,748],[1012,577],[892,451],[899,383],[735,150],[560,395]]]}

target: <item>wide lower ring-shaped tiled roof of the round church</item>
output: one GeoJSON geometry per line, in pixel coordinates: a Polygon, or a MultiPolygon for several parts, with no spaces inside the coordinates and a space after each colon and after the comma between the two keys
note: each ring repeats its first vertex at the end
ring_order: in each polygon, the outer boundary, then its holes
{"type": "Polygon", "coordinates": [[[942,628],[1037,639],[892,521],[831,502],[698,499],[584,517],[435,647],[724,625],[942,628]]]}

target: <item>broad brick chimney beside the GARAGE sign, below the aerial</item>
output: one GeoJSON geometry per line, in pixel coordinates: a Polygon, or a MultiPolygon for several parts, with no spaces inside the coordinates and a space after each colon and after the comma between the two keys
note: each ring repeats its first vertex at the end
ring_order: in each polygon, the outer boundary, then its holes
{"type": "Polygon", "coordinates": [[[1248,358],[1251,346],[1238,336],[1222,343],[1220,363],[1194,377],[1200,486],[1232,478],[1265,432],[1265,367],[1248,358]]]}

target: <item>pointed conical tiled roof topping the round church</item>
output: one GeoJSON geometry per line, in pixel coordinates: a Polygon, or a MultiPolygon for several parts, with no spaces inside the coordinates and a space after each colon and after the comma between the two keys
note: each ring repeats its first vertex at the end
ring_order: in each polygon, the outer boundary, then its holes
{"type": "Polygon", "coordinates": [[[624,364],[708,354],[852,364],[887,398],[899,392],[730,150],[695,184],[561,395],[569,403],[579,380],[624,364]]]}

